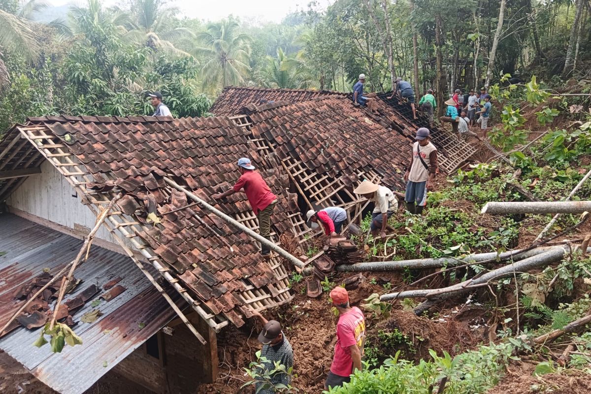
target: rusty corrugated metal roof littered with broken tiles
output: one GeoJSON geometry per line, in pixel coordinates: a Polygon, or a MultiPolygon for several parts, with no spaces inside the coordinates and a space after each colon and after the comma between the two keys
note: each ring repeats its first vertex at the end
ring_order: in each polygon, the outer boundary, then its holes
{"type": "MultiPolygon", "coordinates": [[[[20,304],[13,297],[18,286],[40,275],[44,268],[56,273],[74,259],[81,245],[81,240],[40,224],[12,214],[0,215],[0,251],[7,252],[0,257],[0,325],[4,325],[20,304]]],[[[82,337],[82,345],[66,346],[61,353],[51,353],[48,345],[33,346],[39,330],[24,327],[0,340],[0,349],[63,394],[84,392],[175,315],[127,256],[93,246],[89,260],[76,269],[74,276],[84,282],[66,300],[92,284],[100,288],[100,295],[104,292],[102,286],[118,276],[122,278],[118,284],[126,288],[111,301],[100,303],[97,308],[103,315],[94,323],[80,322],[74,326],[76,334],[82,337]],[[139,328],[139,323],[145,327],[139,328]]],[[[182,304],[175,291],[169,294],[182,304]]],[[[90,301],[87,302],[73,313],[74,321],[93,309],[90,301]]]]}

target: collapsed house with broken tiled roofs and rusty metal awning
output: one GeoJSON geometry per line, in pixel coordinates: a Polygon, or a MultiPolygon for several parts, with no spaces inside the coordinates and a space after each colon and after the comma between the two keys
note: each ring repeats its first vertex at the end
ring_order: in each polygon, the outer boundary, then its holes
{"type": "MultiPolygon", "coordinates": [[[[342,93],[230,87],[212,107],[214,118],[28,118],[0,142],[7,211],[0,215],[0,251],[7,252],[0,324],[72,260],[99,211],[121,199],[75,272],[82,282],[66,297],[72,308],[60,314],[83,344],[61,353],[32,346],[51,313],[50,292],[11,324],[0,348],[65,394],[82,393],[111,369],[157,393],[190,392],[215,379],[215,333],[245,324],[251,309],[289,302],[288,268],[275,253],[262,259],[245,233],[164,179],[212,201],[238,178],[238,158],[251,157],[278,196],[273,242],[282,233],[303,242],[313,232],[307,209],[336,205],[349,220],[361,216],[366,201],[352,190],[363,179],[402,189],[417,125],[397,105],[384,97],[373,114],[342,93]],[[102,315],[82,321],[96,309],[102,315]],[[173,309],[183,312],[175,319],[173,309]]],[[[454,135],[437,138],[443,170],[459,164],[454,152],[473,153],[454,135]]],[[[217,207],[258,229],[243,194],[217,207]]]]}

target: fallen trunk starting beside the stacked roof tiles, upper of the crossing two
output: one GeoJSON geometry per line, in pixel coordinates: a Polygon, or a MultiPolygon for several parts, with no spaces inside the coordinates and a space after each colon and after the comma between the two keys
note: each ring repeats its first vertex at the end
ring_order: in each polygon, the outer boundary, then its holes
{"type": "Polygon", "coordinates": [[[510,250],[504,253],[489,252],[478,253],[476,255],[469,255],[461,259],[453,259],[449,257],[442,257],[439,259],[414,259],[414,260],[398,260],[398,261],[377,261],[356,264],[338,265],[336,270],[339,272],[379,272],[379,271],[396,271],[405,268],[420,269],[420,268],[440,268],[445,266],[460,265],[462,263],[471,263],[479,261],[496,260],[502,261],[504,259],[515,256],[516,260],[522,260],[531,256],[540,255],[540,253],[547,252],[554,249],[556,246],[548,246],[542,248],[535,248],[527,252],[520,253],[521,250],[510,250]]]}

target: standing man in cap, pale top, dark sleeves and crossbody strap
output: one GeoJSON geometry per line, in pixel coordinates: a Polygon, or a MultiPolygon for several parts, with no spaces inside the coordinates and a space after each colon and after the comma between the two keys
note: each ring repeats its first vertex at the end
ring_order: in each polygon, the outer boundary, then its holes
{"type": "Polygon", "coordinates": [[[404,174],[408,181],[404,201],[410,213],[421,214],[427,203],[427,190],[433,184],[437,172],[437,148],[429,141],[429,129],[417,130],[410,165],[404,174]]]}

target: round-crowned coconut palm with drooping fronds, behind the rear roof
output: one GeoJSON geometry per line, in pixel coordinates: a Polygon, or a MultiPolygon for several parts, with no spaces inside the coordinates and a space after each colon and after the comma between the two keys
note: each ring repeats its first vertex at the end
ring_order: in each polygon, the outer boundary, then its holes
{"type": "Polygon", "coordinates": [[[241,84],[250,70],[251,37],[236,34],[238,22],[225,19],[207,25],[207,30],[197,35],[201,47],[193,52],[203,58],[202,79],[206,86],[222,87],[241,84]]]}

